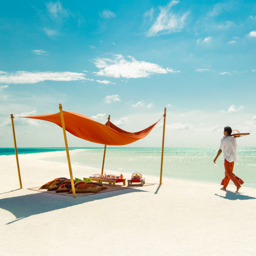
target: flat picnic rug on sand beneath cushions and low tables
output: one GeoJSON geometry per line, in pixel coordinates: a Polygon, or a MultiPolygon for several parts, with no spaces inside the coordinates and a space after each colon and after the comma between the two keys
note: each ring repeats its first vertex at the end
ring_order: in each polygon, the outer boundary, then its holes
{"type": "MultiPolygon", "coordinates": [[[[104,184],[106,189],[102,189],[98,193],[76,193],[76,196],[77,197],[86,197],[86,196],[90,196],[90,195],[97,195],[97,194],[117,191],[117,190],[121,190],[121,189],[129,189],[129,188],[134,188],[134,187],[151,186],[151,185],[154,185],[154,184],[156,184],[156,183],[145,183],[145,184],[143,184],[143,186],[141,186],[140,183],[132,184],[130,186],[128,186],[127,184],[126,185],[117,185],[116,184],[115,186],[110,185],[110,184],[108,184],[108,185],[104,184]]],[[[73,197],[72,193],[71,194],[68,194],[67,192],[66,193],[55,193],[55,190],[47,191],[47,189],[39,189],[39,187],[30,187],[28,189],[34,190],[34,191],[38,191],[38,192],[50,193],[50,194],[54,194],[54,195],[73,197]]]]}

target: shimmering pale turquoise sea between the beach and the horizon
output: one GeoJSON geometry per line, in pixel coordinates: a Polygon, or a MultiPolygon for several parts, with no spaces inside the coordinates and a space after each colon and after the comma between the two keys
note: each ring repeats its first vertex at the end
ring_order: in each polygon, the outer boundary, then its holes
{"type": "MultiPolygon", "coordinates": [[[[0,155],[9,155],[3,154],[4,150],[0,149],[0,155]]],[[[30,154],[60,150],[63,151],[65,148],[19,148],[18,152],[30,154]]],[[[103,151],[103,147],[84,148],[84,151],[71,154],[71,163],[101,168],[103,151]]],[[[217,152],[218,148],[209,147],[166,147],[163,177],[220,183],[224,178],[224,160],[223,155],[220,155],[217,163],[213,162],[217,152]]],[[[66,156],[46,160],[67,162],[66,156]]],[[[238,148],[238,160],[234,165],[234,174],[245,182],[244,186],[256,188],[256,147],[238,148]]],[[[106,150],[104,167],[120,173],[140,172],[159,176],[160,165],[161,148],[158,147],[107,147],[106,150]]]]}

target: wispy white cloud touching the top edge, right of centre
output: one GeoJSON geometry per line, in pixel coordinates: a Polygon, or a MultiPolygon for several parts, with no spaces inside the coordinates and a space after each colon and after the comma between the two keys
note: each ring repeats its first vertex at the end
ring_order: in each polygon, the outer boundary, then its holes
{"type": "Polygon", "coordinates": [[[188,12],[178,16],[170,11],[178,3],[179,1],[173,0],[167,6],[159,7],[160,14],[152,27],[147,31],[147,36],[170,34],[172,32],[178,32],[184,27],[188,12]]]}

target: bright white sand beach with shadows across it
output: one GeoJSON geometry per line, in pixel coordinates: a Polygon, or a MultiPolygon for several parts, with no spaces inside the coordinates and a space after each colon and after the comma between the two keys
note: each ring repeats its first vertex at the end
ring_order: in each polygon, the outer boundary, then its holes
{"type": "MultiPolygon", "coordinates": [[[[19,155],[23,189],[15,156],[0,157],[0,255],[256,254],[256,189],[236,194],[231,181],[222,191],[167,178],[159,186],[152,176],[145,179],[154,185],[75,199],[27,189],[69,178],[68,164],[44,160],[65,154],[19,155]]],[[[75,164],[72,170],[78,178],[100,173],[75,164]]]]}

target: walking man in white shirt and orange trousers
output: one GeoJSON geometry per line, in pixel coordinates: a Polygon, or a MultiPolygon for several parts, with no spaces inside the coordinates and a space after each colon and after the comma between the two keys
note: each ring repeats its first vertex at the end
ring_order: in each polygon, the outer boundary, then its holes
{"type": "Polygon", "coordinates": [[[237,160],[237,140],[231,137],[232,129],[229,126],[224,128],[224,138],[221,139],[220,149],[217,153],[214,163],[216,163],[217,158],[223,152],[224,155],[224,167],[225,167],[225,178],[222,180],[221,185],[222,190],[226,190],[229,180],[231,180],[237,187],[236,193],[238,193],[241,185],[244,183],[240,178],[233,174],[234,161],[237,160]]]}

